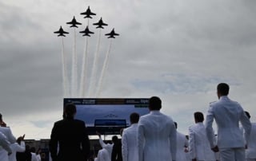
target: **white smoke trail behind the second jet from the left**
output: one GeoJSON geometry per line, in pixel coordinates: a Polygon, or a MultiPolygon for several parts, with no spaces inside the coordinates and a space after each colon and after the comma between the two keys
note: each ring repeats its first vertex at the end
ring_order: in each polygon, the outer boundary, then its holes
{"type": "Polygon", "coordinates": [[[73,46],[73,54],[72,54],[72,74],[71,74],[71,96],[77,96],[77,84],[78,84],[78,55],[76,50],[77,44],[76,30],[74,28],[74,46],[73,46]]]}

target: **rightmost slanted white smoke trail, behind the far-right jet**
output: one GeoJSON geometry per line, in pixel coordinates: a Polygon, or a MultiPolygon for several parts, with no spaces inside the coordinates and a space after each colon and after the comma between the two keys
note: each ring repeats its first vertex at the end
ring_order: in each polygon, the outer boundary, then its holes
{"type": "Polygon", "coordinates": [[[112,40],[110,40],[110,46],[109,46],[109,49],[106,53],[106,57],[105,57],[105,60],[104,60],[103,66],[102,66],[102,73],[99,77],[97,91],[96,91],[96,97],[98,97],[100,95],[100,92],[102,92],[102,81],[103,81],[103,78],[105,76],[105,71],[106,71],[106,68],[107,68],[107,65],[108,65],[108,60],[109,60],[109,56],[110,56],[111,47],[112,47],[112,40]]]}

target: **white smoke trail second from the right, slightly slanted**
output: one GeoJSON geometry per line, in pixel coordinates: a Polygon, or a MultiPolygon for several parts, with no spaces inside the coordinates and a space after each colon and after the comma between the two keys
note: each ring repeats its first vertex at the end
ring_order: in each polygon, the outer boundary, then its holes
{"type": "Polygon", "coordinates": [[[98,64],[98,53],[99,53],[99,49],[100,49],[100,44],[101,44],[101,32],[102,30],[99,29],[98,32],[98,45],[96,48],[96,52],[94,55],[94,64],[92,67],[92,73],[91,73],[91,79],[90,79],[90,86],[89,86],[89,92],[90,92],[90,97],[92,97],[92,88],[95,88],[95,84],[96,84],[96,74],[97,74],[97,64],[98,64]]]}

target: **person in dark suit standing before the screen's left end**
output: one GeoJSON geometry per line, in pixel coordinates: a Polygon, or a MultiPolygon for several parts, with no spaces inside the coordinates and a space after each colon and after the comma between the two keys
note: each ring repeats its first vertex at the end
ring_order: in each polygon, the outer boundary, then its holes
{"type": "Polygon", "coordinates": [[[90,154],[90,141],[86,124],[75,120],[76,107],[66,104],[63,120],[54,123],[50,135],[50,155],[53,161],[86,161],[90,154]]]}

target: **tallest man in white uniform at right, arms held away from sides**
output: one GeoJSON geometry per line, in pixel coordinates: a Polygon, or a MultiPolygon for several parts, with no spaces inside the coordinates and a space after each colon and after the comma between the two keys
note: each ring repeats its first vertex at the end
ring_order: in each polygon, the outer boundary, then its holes
{"type": "Polygon", "coordinates": [[[206,116],[206,133],[213,151],[219,151],[222,161],[245,161],[245,141],[239,121],[245,130],[246,143],[250,137],[250,120],[242,106],[228,97],[230,87],[226,83],[217,86],[218,101],[211,103],[206,116]],[[218,127],[217,145],[212,139],[213,122],[218,127]]]}

